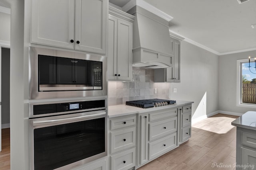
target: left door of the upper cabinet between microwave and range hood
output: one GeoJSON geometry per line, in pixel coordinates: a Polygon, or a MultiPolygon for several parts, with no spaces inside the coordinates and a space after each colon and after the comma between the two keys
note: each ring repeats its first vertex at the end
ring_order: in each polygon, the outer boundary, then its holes
{"type": "Polygon", "coordinates": [[[108,80],[116,80],[117,74],[117,19],[108,16],[108,80]]]}

